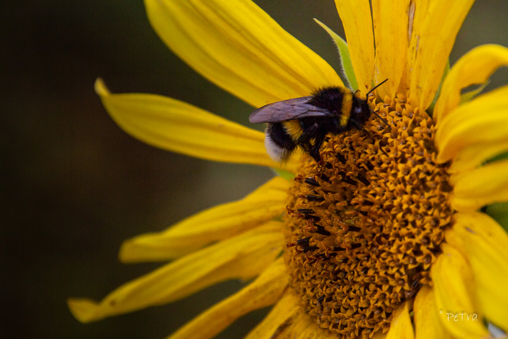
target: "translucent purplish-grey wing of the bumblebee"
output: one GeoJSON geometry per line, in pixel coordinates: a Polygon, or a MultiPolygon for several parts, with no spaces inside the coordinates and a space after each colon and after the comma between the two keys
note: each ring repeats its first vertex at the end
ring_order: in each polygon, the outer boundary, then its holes
{"type": "Polygon", "coordinates": [[[331,115],[331,113],[308,102],[309,97],[295,98],[268,104],[253,111],[249,116],[250,122],[280,122],[305,116],[331,115]]]}

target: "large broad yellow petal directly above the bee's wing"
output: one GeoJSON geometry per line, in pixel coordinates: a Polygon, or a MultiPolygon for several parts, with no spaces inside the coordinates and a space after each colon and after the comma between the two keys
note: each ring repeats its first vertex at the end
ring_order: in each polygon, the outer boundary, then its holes
{"type": "Polygon", "coordinates": [[[342,86],[325,60],[250,0],[145,0],[145,6],[176,55],[253,106],[342,86]]]}

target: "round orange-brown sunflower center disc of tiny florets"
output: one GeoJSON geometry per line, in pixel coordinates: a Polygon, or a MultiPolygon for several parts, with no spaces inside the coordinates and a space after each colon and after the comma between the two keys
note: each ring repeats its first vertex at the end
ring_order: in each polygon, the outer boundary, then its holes
{"type": "Polygon", "coordinates": [[[387,330],[431,284],[451,225],[448,165],[435,163],[432,118],[404,96],[371,102],[365,130],[331,136],[290,189],[285,238],[291,286],[306,313],[341,338],[387,330]]]}

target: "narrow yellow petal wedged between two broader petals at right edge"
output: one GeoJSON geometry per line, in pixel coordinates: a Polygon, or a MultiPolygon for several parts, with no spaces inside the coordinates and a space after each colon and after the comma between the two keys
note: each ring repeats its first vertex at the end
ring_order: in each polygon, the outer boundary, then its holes
{"type": "Polygon", "coordinates": [[[468,145],[457,152],[448,172],[454,174],[472,170],[485,161],[504,153],[507,149],[508,139],[499,142],[481,142],[468,145]]]}

